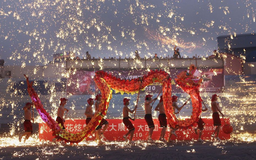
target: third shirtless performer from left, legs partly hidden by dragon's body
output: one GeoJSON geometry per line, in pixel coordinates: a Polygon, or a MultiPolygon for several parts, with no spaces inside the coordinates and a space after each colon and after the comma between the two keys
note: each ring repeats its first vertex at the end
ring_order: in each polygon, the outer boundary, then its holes
{"type": "MultiPolygon", "coordinates": [[[[86,115],[85,123],[86,123],[86,125],[92,120],[92,117],[94,116],[94,114],[92,112],[92,105],[94,104],[93,99],[89,98],[87,100],[87,102],[88,102],[89,105],[87,105],[86,110],[85,110],[85,115],[86,115]]],[[[102,143],[102,141],[100,139],[100,128],[101,127],[96,128],[96,140],[99,143],[102,143]]]]}

